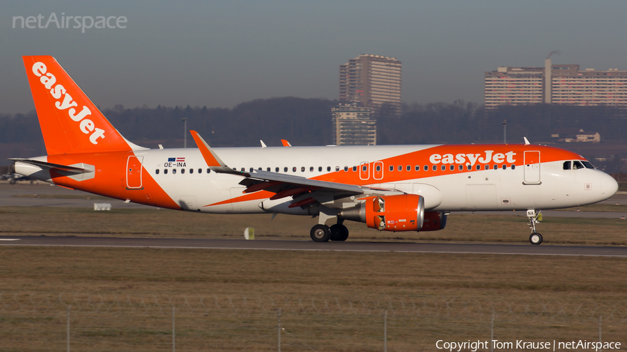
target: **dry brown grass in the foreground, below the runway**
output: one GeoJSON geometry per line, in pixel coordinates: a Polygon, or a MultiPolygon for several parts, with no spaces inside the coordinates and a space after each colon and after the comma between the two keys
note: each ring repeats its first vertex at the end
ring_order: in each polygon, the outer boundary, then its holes
{"type": "MultiPolygon", "coordinates": [[[[201,294],[216,294],[224,305],[224,297],[232,296],[239,301],[248,297],[265,302],[268,297],[279,302],[288,297],[291,301],[302,299],[305,305],[312,298],[319,302],[327,297],[333,303],[333,297],[348,297],[356,304],[360,299],[378,302],[381,309],[391,301],[443,298],[488,304],[557,302],[577,307],[594,302],[603,307],[623,307],[614,314],[624,313],[627,307],[627,259],[617,258],[36,247],[1,247],[0,256],[0,285],[14,293],[11,298],[4,296],[0,303],[23,300],[26,306],[28,294],[33,292],[35,296],[54,292],[50,296],[55,298],[65,291],[68,302],[74,305],[85,303],[87,297],[93,300],[91,296],[98,294],[141,295],[146,301],[151,295],[168,296],[177,303],[201,294]]],[[[189,303],[194,304],[191,299],[189,303]]],[[[607,310],[603,312],[607,314],[607,310]]],[[[76,346],[90,351],[116,346],[137,351],[167,349],[171,339],[168,313],[79,312],[72,321],[72,338],[76,346]]],[[[472,314],[459,311],[448,319],[390,316],[390,346],[394,351],[430,351],[438,339],[488,339],[488,323],[485,314],[474,319],[472,314]]],[[[178,324],[183,351],[203,350],[202,346],[219,351],[247,350],[246,346],[260,351],[276,348],[274,312],[188,315],[180,317],[178,324]]],[[[307,349],[295,337],[317,351],[380,351],[382,346],[380,314],[286,312],[283,324],[294,336],[286,333],[284,351],[307,349]]],[[[0,341],[10,342],[0,351],[8,350],[8,346],[17,351],[37,350],[28,332],[41,333],[63,346],[65,314],[5,310],[0,312],[0,327],[0,341]]],[[[603,336],[627,342],[626,327],[627,323],[613,321],[603,336]]],[[[590,340],[597,332],[595,321],[582,322],[579,317],[559,322],[537,317],[497,321],[497,337],[502,340],[590,340]]],[[[38,350],[45,351],[46,345],[38,350]]]]}

